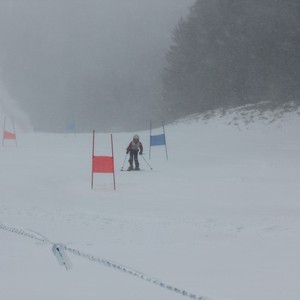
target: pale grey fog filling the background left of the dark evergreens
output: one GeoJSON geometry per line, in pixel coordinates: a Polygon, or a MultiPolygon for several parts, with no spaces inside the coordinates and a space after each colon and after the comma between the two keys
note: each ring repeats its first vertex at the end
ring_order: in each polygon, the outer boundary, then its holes
{"type": "Polygon", "coordinates": [[[165,54],[193,2],[1,0],[0,86],[37,130],[147,128],[163,119],[165,54]]]}

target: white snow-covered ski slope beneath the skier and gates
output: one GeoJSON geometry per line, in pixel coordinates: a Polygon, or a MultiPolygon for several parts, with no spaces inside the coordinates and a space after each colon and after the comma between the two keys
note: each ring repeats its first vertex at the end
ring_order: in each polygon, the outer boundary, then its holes
{"type": "MultiPolygon", "coordinates": [[[[298,299],[299,114],[232,118],[167,126],[169,160],[152,148],[152,171],[140,158],[121,172],[133,133],[114,134],[116,191],[111,174],[90,188],[92,134],[19,134],[0,149],[0,223],[212,300],[298,299]]],[[[109,146],[98,133],[96,155],[109,146]]],[[[49,244],[3,228],[0,242],[1,299],[185,299],[71,253],[66,271],[49,244]]]]}

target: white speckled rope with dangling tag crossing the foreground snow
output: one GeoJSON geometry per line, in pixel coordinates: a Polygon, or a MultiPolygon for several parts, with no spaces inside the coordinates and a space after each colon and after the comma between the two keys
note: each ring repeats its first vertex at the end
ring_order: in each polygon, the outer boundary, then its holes
{"type": "Polygon", "coordinates": [[[172,292],[181,294],[182,296],[185,296],[185,297],[188,297],[188,298],[191,298],[191,299],[195,299],[195,300],[209,300],[209,298],[207,298],[207,297],[197,296],[197,295],[192,294],[192,293],[190,293],[188,291],[185,291],[183,289],[179,289],[179,288],[173,287],[169,284],[165,284],[161,280],[155,279],[154,277],[151,277],[149,275],[145,275],[145,274],[143,274],[139,271],[136,271],[136,270],[134,270],[130,267],[126,267],[126,266],[123,266],[119,263],[114,263],[114,262],[108,261],[106,259],[98,258],[98,257],[95,257],[91,254],[87,254],[87,253],[81,252],[79,250],[69,248],[66,245],[61,244],[61,243],[53,243],[50,240],[48,240],[46,237],[44,237],[43,235],[41,235],[37,232],[34,232],[34,231],[28,232],[24,229],[14,228],[14,227],[11,227],[11,226],[4,225],[2,223],[0,223],[0,229],[5,230],[5,231],[9,231],[9,232],[12,232],[12,233],[16,233],[18,235],[22,235],[22,236],[37,240],[39,242],[45,243],[45,244],[51,244],[53,254],[57,258],[58,263],[60,265],[63,265],[66,268],[66,270],[70,270],[71,267],[72,267],[72,264],[71,264],[69,258],[67,257],[67,255],[65,253],[67,251],[67,252],[72,253],[73,255],[77,255],[77,256],[86,258],[86,259],[88,259],[92,262],[102,264],[106,267],[113,268],[113,269],[116,269],[118,271],[124,272],[126,274],[132,275],[134,277],[140,278],[142,280],[148,281],[148,282],[153,283],[155,285],[158,285],[162,288],[168,289],[172,292]]]}

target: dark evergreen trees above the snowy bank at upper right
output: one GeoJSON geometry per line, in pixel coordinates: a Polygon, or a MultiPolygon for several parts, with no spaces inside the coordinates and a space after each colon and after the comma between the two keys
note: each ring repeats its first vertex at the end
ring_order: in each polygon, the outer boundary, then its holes
{"type": "Polygon", "coordinates": [[[300,101],[299,17],[298,0],[197,0],[166,55],[169,115],[300,101]]]}

